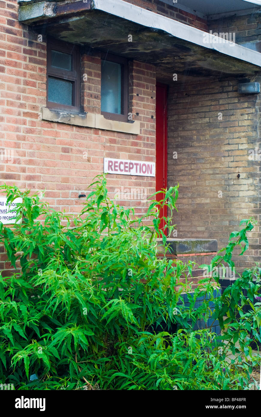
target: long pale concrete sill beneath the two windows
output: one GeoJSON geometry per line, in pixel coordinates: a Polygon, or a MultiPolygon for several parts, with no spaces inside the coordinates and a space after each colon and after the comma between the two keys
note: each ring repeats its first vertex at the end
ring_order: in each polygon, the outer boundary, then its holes
{"type": "Polygon", "coordinates": [[[140,122],[119,122],[105,119],[101,114],[93,113],[66,113],[61,111],[50,110],[47,107],[41,108],[42,120],[51,122],[67,123],[69,125],[83,126],[88,128],[103,129],[109,131],[140,134],[140,122]]]}

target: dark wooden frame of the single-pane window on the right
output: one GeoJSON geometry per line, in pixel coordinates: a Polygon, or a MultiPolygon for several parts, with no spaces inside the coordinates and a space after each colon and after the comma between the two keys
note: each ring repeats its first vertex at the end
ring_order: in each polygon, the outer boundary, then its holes
{"type": "MultiPolygon", "coordinates": [[[[128,121],[129,111],[129,67],[128,59],[112,54],[102,54],[101,60],[115,62],[121,64],[121,114],[108,113],[101,111],[101,114],[109,120],[115,120],[120,122],[128,121]]],[[[101,63],[101,72],[103,70],[103,63],[101,63]]],[[[100,96],[102,100],[102,95],[100,96]]]]}

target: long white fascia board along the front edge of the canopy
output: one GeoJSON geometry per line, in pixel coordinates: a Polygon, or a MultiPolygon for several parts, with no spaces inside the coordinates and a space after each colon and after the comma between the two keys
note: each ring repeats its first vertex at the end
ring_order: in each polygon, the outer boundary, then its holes
{"type": "MultiPolygon", "coordinates": [[[[216,50],[217,52],[261,67],[261,53],[257,51],[245,48],[237,43],[232,44],[231,42],[203,43],[207,32],[193,28],[177,20],[166,18],[165,16],[153,13],[150,10],[143,9],[123,0],[93,0],[93,9],[130,20],[148,28],[163,30],[176,38],[186,40],[203,48],[216,50]]],[[[209,33],[208,36],[212,40],[216,38],[209,33]]]]}

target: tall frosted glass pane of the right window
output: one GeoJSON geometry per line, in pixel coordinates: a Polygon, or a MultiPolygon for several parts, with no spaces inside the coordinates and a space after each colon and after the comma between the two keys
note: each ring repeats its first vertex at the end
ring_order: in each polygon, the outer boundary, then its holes
{"type": "Polygon", "coordinates": [[[121,65],[102,61],[101,111],[121,114],[121,65]]]}

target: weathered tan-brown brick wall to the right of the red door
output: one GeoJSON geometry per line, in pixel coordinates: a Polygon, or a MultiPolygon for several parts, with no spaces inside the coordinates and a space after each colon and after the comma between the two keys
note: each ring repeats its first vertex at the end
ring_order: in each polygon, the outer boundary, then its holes
{"type": "Polygon", "coordinates": [[[173,214],[179,239],[217,239],[221,249],[240,220],[258,220],[247,258],[235,257],[247,267],[261,259],[260,161],[248,158],[249,149],[261,149],[260,95],[238,94],[237,85],[237,78],[198,78],[170,86],[168,186],[180,184],[173,214]]]}

